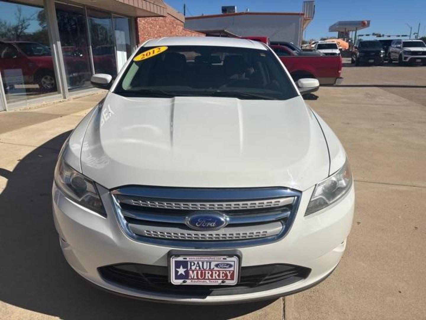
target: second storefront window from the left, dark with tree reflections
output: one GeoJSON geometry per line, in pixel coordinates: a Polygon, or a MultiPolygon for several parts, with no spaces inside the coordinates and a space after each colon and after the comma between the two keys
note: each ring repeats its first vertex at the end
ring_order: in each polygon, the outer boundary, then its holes
{"type": "Polygon", "coordinates": [[[56,3],[56,17],[69,90],[90,87],[90,56],[84,9],[56,3]]]}

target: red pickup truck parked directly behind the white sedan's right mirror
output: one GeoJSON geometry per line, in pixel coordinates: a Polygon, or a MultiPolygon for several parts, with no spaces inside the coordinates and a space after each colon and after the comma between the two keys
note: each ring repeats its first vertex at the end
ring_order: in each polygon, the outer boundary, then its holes
{"type": "Polygon", "coordinates": [[[338,84],[343,78],[343,60],[340,56],[300,56],[283,46],[271,45],[294,81],[314,78],[320,84],[338,84]]]}

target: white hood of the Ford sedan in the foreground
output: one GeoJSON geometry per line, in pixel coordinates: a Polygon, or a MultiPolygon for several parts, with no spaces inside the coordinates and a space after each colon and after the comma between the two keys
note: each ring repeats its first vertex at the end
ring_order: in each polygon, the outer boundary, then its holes
{"type": "Polygon", "coordinates": [[[81,170],[112,189],[285,186],[328,176],[328,148],[311,109],[222,97],[127,98],[109,93],[83,138],[81,170]]]}

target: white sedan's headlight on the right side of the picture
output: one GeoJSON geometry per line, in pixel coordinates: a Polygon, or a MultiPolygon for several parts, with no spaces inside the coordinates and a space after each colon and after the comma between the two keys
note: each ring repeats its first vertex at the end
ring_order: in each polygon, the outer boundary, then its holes
{"type": "Polygon", "coordinates": [[[305,215],[310,215],[342,198],[352,186],[352,172],[348,160],[334,175],[315,186],[305,215]]]}

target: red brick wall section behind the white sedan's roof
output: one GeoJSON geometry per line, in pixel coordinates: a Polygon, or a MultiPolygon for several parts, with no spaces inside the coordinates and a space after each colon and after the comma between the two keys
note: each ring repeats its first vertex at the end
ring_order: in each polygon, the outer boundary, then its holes
{"type": "Polygon", "coordinates": [[[137,18],[138,44],[148,39],[161,37],[191,36],[202,37],[204,33],[184,29],[184,23],[167,14],[166,17],[137,18]]]}

